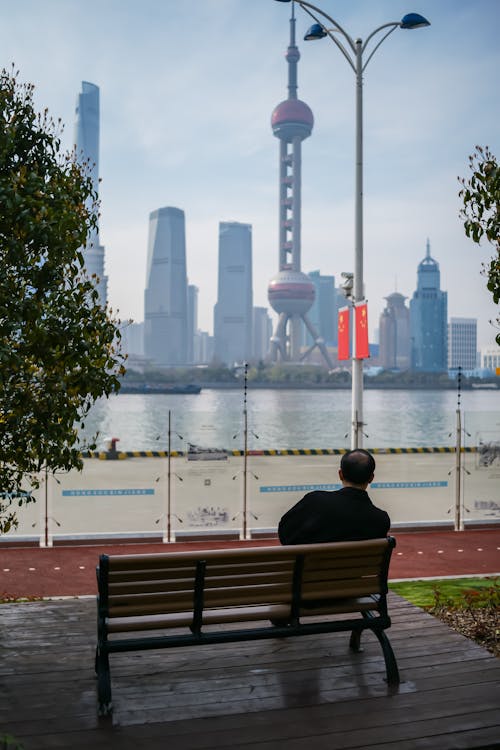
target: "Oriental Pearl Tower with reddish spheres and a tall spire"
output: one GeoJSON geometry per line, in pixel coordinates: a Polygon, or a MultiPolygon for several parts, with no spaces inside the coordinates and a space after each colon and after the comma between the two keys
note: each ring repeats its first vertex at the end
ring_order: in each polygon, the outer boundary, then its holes
{"type": "Polygon", "coordinates": [[[280,139],[279,161],[279,271],[269,282],[269,304],[278,315],[271,337],[271,360],[300,362],[318,347],[332,367],[324,340],[307,317],[315,297],[311,279],[300,270],[300,182],[302,141],[311,135],[314,117],[307,104],[297,98],[297,63],[300,52],[295,44],[295,14],[292,5],[288,63],[288,99],[278,104],[271,116],[271,127],[280,139]],[[301,320],[313,344],[301,353],[301,320]]]}

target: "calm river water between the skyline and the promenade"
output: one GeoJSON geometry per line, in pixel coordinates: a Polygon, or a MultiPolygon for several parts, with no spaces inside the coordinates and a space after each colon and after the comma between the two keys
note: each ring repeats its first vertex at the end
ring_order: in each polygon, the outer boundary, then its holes
{"type": "MultiPolygon", "coordinates": [[[[452,446],[457,406],[457,394],[451,390],[367,390],[364,446],[452,446]]],[[[82,438],[99,431],[99,449],[117,437],[119,450],[165,450],[170,412],[171,450],[186,450],[188,442],[242,450],[244,407],[243,389],[203,389],[199,395],[119,394],[95,404],[82,438]]],[[[348,389],[249,390],[246,409],[249,450],[349,447],[348,389]]],[[[500,391],[463,391],[460,412],[463,444],[500,440],[500,391]]]]}

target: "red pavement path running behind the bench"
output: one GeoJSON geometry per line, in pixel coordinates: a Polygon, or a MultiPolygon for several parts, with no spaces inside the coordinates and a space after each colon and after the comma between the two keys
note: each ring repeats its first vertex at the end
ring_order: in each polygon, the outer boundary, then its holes
{"type": "MultiPolygon", "coordinates": [[[[390,578],[500,575],[500,528],[471,531],[394,533],[390,578]]],[[[0,546],[0,598],[82,596],[96,593],[99,555],[268,546],[252,542],[102,544],[51,548],[0,546]]]]}

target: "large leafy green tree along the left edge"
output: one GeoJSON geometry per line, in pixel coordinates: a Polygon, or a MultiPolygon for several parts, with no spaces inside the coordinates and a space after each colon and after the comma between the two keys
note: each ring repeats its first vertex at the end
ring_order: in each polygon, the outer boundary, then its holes
{"type": "Polygon", "coordinates": [[[98,221],[90,170],[61,148],[33,86],[0,73],[0,533],[41,472],[81,469],[78,429],[119,389],[118,321],[82,248],[98,221]]]}

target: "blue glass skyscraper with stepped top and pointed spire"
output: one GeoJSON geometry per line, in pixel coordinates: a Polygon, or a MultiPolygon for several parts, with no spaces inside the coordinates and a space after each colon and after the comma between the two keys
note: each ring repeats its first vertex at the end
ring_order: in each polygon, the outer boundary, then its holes
{"type": "Polygon", "coordinates": [[[444,372],[448,366],[448,295],[440,289],[439,263],[425,258],[417,270],[417,289],[410,302],[411,366],[422,372],[444,372]]]}

